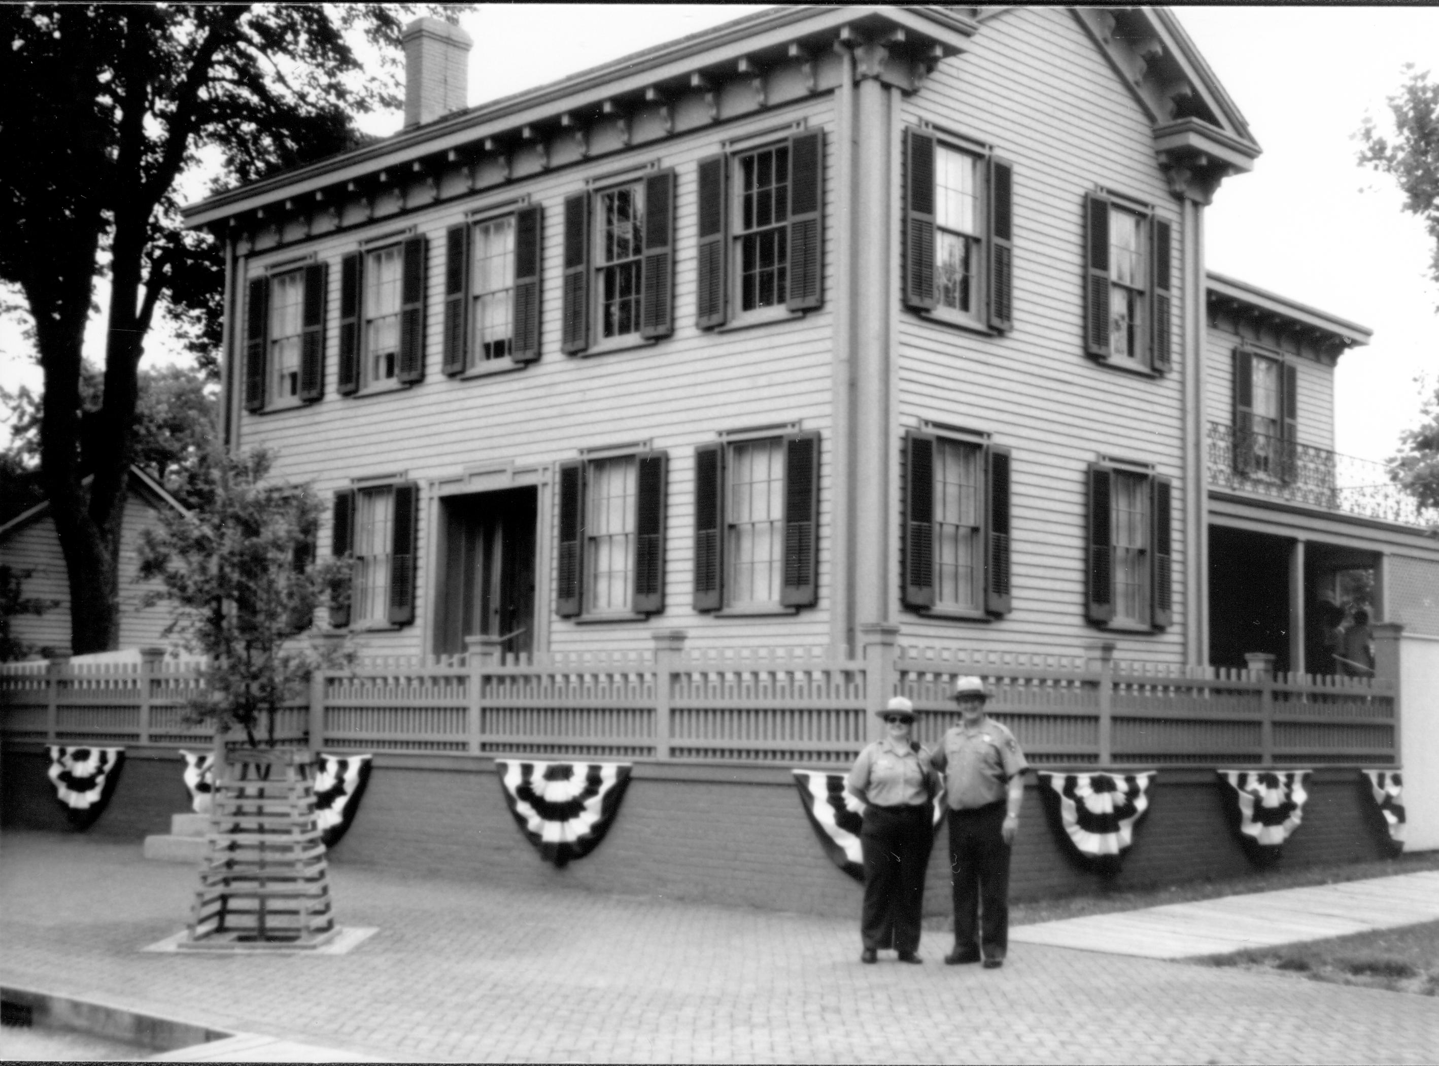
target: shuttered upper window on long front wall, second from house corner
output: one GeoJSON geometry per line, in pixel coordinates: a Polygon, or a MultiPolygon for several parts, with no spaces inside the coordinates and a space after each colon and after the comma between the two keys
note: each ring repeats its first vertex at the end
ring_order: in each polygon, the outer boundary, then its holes
{"type": "Polygon", "coordinates": [[[603,351],[673,332],[675,171],[564,201],[561,348],[603,351]]]}

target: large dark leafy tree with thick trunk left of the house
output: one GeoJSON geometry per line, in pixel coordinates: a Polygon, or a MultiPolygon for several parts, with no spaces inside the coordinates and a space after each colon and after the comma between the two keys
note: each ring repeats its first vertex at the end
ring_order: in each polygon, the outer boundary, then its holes
{"type": "Polygon", "coordinates": [[[40,482],[69,571],[76,653],[117,642],[137,371],[155,312],[171,308],[203,351],[217,338],[220,252],[180,227],[178,190],[206,167],[222,184],[249,181],[355,145],[355,114],[399,106],[400,32],[414,13],[0,6],[0,282],[23,298],[45,373],[40,482]],[[378,65],[357,55],[361,39],[378,65]],[[81,350],[101,273],[104,380],[82,434],[81,350]],[[82,439],[94,462],[82,462],[82,439]]]}

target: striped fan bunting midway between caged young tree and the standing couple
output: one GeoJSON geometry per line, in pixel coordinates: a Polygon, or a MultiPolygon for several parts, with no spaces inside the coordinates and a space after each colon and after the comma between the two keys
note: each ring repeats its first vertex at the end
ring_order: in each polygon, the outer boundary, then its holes
{"type": "Polygon", "coordinates": [[[629,762],[495,760],[505,803],[540,857],[583,859],[604,839],[629,787],[629,762]]]}

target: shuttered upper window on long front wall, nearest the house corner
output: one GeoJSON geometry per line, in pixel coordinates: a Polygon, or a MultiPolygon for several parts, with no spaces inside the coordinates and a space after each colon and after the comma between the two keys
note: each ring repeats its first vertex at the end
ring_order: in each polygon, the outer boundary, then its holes
{"type": "Polygon", "coordinates": [[[696,184],[701,328],[822,305],[822,131],[711,155],[699,161],[696,184]]]}

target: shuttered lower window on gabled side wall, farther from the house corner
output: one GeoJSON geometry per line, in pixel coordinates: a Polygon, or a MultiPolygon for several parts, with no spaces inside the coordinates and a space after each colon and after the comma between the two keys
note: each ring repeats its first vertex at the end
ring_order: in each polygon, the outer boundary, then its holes
{"type": "Polygon", "coordinates": [[[1117,629],[1173,619],[1168,478],[1112,463],[1089,466],[1088,616],[1117,629]]]}

